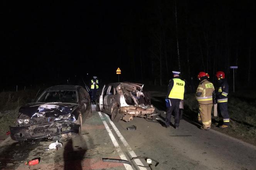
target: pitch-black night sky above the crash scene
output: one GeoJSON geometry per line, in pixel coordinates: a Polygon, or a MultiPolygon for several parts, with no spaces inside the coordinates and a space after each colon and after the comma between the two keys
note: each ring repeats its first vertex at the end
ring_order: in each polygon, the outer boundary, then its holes
{"type": "Polygon", "coordinates": [[[254,1],[177,1],[178,31],[170,0],[4,1],[2,7],[1,88],[94,75],[116,82],[117,67],[123,81],[167,85],[179,70],[177,37],[183,78],[200,71],[214,77],[218,70],[231,77],[229,66],[237,64],[237,82],[255,82],[254,1]]]}

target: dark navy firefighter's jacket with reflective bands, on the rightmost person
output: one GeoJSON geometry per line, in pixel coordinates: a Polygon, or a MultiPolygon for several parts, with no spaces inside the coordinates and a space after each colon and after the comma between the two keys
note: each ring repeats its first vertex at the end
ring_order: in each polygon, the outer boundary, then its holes
{"type": "Polygon", "coordinates": [[[229,93],[229,85],[225,78],[219,80],[218,88],[216,89],[216,91],[217,91],[217,93],[216,93],[217,103],[227,102],[227,95],[229,93]]]}

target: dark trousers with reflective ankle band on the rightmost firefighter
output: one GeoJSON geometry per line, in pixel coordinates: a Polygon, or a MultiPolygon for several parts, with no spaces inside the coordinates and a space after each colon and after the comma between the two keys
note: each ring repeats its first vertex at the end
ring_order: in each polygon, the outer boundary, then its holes
{"type": "Polygon", "coordinates": [[[227,102],[218,103],[217,105],[219,124],[229,125],[229,113],[227,112],[227,102]]]}

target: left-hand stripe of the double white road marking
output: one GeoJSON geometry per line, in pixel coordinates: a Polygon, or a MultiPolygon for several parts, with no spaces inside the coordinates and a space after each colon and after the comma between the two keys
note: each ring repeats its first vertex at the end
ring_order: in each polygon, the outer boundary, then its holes
{"type": "MultiPolygon", "coordinates": [[[[116,141],[116,138],[114,137],[113,133],[111,132],[111,130],[110,130],[110,128],[109,128],[107,122],[106,122],[105,119],[103,118],[101,112],[98,112],[98,113],[99,113],[99,117],[101,118],[101,120],[102,120],[102,122],[103,122],[103,124],[104,124],[104,126],[105,126],[105,128],[106,128],[106,130],[107,130],[107,132],[108,132],[109,137],[110,137],[111,140],[112,140],[112,143],[114,144],[114,146],[115,146],[115,148],[116,148],[116,151],[118,152],[118,155],[120,156],[121,159],[123,159],[123,160],[128,160],[128,159],[126,158],[125,154],[123,153],[123,151],[121,150],[121,148],[120,148],[118,142],[116,141]]],[[[125,166],[126,170],[133,170],[133,168],[131,167],[131,165],[126,164],[126,163],[124,163],[123,165],[125,166]]]]}

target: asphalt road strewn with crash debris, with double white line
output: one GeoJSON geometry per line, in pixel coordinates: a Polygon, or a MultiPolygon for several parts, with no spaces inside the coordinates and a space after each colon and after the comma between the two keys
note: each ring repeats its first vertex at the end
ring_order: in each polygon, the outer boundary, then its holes
{"type": "Polygon", "coordinates": [[[153,169],[158,170],[256,169],[255,146],[215,130],[200,130],[185,120],[177,130],[143,118],[113,123],[93,106],[82,131],[59,150],[46,150],[51,142],[15,142],[7,138],[0,144],[0,169],[27,170],[25,161],[40,157],[40,163],[30,169],[149,170],[137,166],[148,166],[144,159],[132,160],[131,165],[102,162],[102,158],[130,160],[137,156],[157,160],[159,164],[153,169]],[[131,125],[136,130],[127,130],[131,125]]]}

